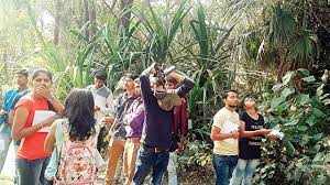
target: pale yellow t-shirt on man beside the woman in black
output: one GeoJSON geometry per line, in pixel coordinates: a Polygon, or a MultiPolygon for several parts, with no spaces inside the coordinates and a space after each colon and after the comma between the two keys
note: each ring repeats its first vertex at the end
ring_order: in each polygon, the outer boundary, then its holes
{"type": "MultiPolygon", "coordinates": [[[[226,107],[220,109],[213,117],[212,127],[217,127],[220,133],[230,133],[238,130],[240,127],[240,116],[235,111],[230,111],[226,107]]],[[[226,140],[213,141],[213,153],[219,155],[238,155],[239,142],[238,139],[229,138],[226,140]]]]}

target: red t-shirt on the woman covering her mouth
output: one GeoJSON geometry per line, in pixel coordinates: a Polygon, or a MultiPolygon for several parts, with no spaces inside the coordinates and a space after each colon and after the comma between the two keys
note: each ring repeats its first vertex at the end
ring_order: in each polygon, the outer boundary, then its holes
{"type": "MultiPolygon", "coordinates": [[[[14,111],[18,107],[23,106],[29,111],[29,117],[25,123],[25,128],[32,127],[34,112],[36,110],[50,110],[48,104],[46,99],[37,99],[32,96],[32,94],[28,94],[20,98],[18,101],[14,111]]],[[[44,151],[44,142],[47,137],[46,132],[35,132],[31,135],[23,138],[21,141],[21,145],[18,150],[16,157],[18,159],[26,159],[26,160],[36,160],[43,159],[46,156],[51,156],[52,153],[44,151]]]]}

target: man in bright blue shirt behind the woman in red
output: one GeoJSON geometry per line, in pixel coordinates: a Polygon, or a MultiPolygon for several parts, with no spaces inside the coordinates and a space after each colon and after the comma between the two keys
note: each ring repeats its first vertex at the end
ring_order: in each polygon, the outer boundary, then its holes
{"type": "Polygon", "coordinates": [[[7,153],[10,146],[10,143],[12,141],[11,138],[11,127],[12,122],[9,121],[9,115],[12,109],[12,104],[15,100],[15,97],[21,91],[24,91],[28,89],[28,70],[26,69],[19,69],[15,72],[15,81],[18,87],[13,88],[3,95],[3,102],[2,102],[2,109],[1,112],[1,120],[2,123],[0,124],[0,172],[2,171],[2,167],[6,162],[7,153]]]}

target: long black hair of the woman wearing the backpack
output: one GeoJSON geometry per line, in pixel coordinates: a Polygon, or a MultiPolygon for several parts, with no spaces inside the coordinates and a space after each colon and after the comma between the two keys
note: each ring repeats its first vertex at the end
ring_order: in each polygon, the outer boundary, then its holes
{"type": "Polygon", "coordinates": [[[75,88],[64,102],[63,118],[68,118],[72,140],[84,141],[95,134],[94,96],[87,89],[75,88]]]}

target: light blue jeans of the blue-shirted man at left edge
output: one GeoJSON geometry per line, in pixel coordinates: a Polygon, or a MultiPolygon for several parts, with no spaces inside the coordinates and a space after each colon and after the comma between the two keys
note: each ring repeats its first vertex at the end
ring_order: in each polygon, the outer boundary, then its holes
{"type": "Polygon", "coordinates": [[[3,123],[0,126],[0,129],[2,129],[0,131],[0,159],[1,159],[0,173],[1,173],[12,139],[11,139],[11,127],[9,124],[3,123]]]}

